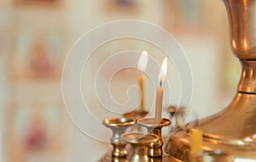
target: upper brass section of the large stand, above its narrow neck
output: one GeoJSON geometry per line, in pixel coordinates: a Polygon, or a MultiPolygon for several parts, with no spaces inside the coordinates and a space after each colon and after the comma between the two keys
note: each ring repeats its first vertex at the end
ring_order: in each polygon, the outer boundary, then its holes
{"type": "Polygon", "coordinates": [[[230,20],[231,45],[241,60],[256,59],[254,0],[224,0],[230,20]]]}

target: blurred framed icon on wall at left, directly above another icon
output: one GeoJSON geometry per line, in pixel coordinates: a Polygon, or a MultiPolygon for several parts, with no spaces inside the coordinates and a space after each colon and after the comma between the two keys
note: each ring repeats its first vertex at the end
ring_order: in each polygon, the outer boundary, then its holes
{"type": "Polygon", "coordinates": [[[63,32],[59,28],[18,26],[8,55],[10,78],[53,79],[61,76],[63,32]]]}

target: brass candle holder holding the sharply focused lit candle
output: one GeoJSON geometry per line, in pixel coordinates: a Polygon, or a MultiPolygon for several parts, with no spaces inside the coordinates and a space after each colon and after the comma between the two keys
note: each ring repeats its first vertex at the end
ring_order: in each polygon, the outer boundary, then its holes
{"type": "Polygon", "coordinates": [[[147,118],[137,120],[137,123],[141,126],[144,126],[148,129],[148,132],[153,132],[156,136],[158,136],[157,142],[152,142],[148,146],[148,156],[150,157],[161,157],[163,155],[162,146],[164,144],[162,140],[162,128],[165,126],[171,125],[171,120],[162,119],[160,123],[155,123],[154,118],[147,118]]]}

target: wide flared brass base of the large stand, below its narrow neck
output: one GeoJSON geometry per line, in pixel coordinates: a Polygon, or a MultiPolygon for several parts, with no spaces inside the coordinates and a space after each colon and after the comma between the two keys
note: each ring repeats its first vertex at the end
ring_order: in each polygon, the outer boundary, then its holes
{"type": "MultiPolygon", "coordinates": [[[[227,109],[199,120],[196,126],[204,132],[205,152],[221,150],[234,159],[256,159],[256,95],[238,92],[227,109]]],[[[166,143],[166,153],[188,161],[191,137],[189,123],[183,130],[172,132],[166,143]]]]}

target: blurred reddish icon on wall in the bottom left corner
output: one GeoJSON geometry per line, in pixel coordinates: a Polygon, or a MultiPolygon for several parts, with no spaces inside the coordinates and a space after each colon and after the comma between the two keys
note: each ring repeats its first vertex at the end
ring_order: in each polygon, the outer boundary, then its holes
{"type": "MultiPolygon", "coordinates": [[[[65,111],[58,102],[12,102],[6,119],[6,158],[9,162],[64,157],[65,111]]],[[[67,129],[67,128],[66,128],[67,129]]]]}

